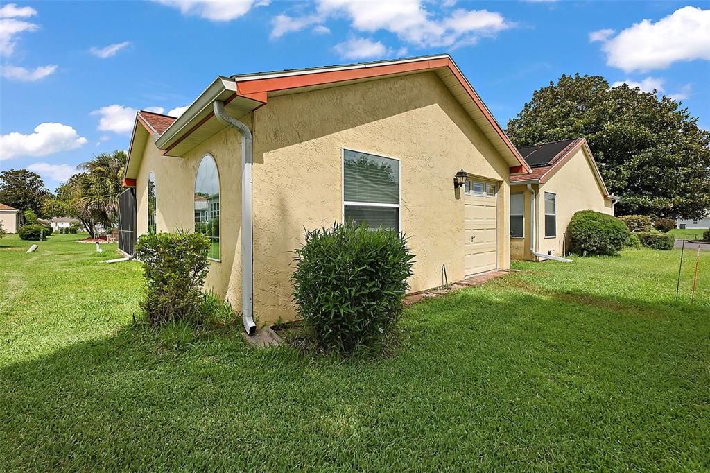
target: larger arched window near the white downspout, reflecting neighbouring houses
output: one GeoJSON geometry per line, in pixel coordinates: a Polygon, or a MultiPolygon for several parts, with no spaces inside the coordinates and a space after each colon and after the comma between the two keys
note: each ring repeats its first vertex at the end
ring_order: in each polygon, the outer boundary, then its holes
{"type": "Polygon", "coordinates": [[[219,173],[209,154],[200,161],[195,178],[195,232],[209,237],[208,256],[219,259],[219,173]]]}

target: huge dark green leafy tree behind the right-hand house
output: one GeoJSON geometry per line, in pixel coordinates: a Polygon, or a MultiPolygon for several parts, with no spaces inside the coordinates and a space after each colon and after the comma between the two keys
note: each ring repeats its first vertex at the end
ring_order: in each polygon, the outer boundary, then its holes
{"type": "Polygon", "coordinates": [[[584,136],[620,214],[698,218],[710,208],[710,133],[668,97],[601,76],[562,75],[508,121],[531,146],[584,136]]]}

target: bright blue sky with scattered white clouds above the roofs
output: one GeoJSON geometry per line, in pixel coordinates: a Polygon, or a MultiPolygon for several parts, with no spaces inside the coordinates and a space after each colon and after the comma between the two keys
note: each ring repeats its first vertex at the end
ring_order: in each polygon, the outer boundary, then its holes
{"type": "Polygon", "coordinates": [[[127,149],[136,109],[178,113],[217,75],[433,53],[503,127],[580,72],[659,88],[710,128],[709,1],[18,1],[0,8],[0,169],[54,189],[127,149]]]}

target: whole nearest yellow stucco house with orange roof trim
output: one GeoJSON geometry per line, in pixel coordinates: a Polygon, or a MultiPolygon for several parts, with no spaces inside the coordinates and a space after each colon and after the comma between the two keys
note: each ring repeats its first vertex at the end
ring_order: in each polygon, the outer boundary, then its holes
{"type": "MultiPolygon", "coordinates": [[[[296,316],[304,229],[352,219],[403,232],[413,292],[440,286],[444,266],[449,281],[509,268],[508,183],[528,172],[457,65],[436,55],[217,77],[177,119],[138,112],[123,208],[135,195],[135,234],[148,232],[152,179],[158,232],[199,220],[212,240],[207,287],[253,332],[253,317],[296,316]]],[[[131,232],[131,217],[121,222],[131,232]]]]}

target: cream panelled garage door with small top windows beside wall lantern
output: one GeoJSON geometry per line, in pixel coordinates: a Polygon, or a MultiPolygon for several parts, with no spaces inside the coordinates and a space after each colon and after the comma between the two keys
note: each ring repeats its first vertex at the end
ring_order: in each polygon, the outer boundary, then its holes
{"type": "Polygon", "coordinates": [[[498,267],[498,185],[469,180],[464,186],[466,276],[498,267]]]}

